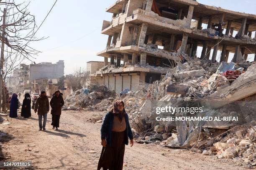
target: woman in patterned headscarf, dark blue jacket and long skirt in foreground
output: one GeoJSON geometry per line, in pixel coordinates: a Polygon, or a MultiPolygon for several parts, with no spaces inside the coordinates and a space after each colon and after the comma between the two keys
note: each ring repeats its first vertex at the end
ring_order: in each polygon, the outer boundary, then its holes
{"type": "Polygon", "coordinates": [[[117,100],[112,110],[105,115],[100,133],[103,147],[97,170],[122,170],[128,137],[131,140],[131,147],[133,146],[133,133],[122,100],[117,100]]]}

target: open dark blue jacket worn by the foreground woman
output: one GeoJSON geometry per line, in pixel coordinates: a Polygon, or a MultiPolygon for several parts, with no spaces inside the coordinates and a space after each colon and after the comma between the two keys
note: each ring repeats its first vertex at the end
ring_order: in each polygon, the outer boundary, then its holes
{"type": "MultiPolygon", "coordinates": [[[[112,112],[107,112],[100,128],[101,139],[106,139],[107,145],[111,146],[111,133],[113,127],[114,115],[112,112]]],[[[128,145],[128,137],[133,139],[133,133],[131,131],[128,115],[125,114],[125,145],[128,145]]]]}

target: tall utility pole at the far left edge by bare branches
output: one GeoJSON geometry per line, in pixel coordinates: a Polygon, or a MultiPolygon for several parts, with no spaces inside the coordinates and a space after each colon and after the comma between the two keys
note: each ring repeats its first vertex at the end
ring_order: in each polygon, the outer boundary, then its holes
{"type": "Polygon", "coordinates": [[[0,58],[0,102],[2,103],[2,111],[6,110],[6,97],[5,97],[5,83],[3,82],[3,63],[4,63],[4,52],[5,52],[5,19],[6,19],[6,8],[3,13],[3,30],[2,30],[2,45],[1,45],[1,58],[0,58]],[[3,96],[3,97],[2,97],[3,96]]]}

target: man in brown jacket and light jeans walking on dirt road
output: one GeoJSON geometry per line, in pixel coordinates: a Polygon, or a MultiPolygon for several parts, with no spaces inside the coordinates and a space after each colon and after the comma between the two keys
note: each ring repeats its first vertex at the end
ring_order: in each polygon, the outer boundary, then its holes
{"type": "Polygon", "coordinates": [[[35,105],[35,113],[38,114],[38,120],[39,120],[39,130],[42,130],[42,117],[44,116],[44,122],[43,122],[43,130],[46,126],[46,120],[47,120],[47,113],[50,110],[49,106],[49,99],[46,96],[46,92],[44,90],[41,91],[40,97],[36,100],[35,105]]]}

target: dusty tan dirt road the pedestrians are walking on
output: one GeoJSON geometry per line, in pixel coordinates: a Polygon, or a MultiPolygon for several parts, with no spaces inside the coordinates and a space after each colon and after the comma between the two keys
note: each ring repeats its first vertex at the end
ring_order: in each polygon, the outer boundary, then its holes
{"type": "MultiPolygon", "coordinates": [[[[100,157],[100,125],[88,122],[99,112],[63,111],[59,130],[51,129],[48,114],[46,130],[38,131],[38,117],[10,118],[0,125],[7,133],[0,140],[4,161],[30,161],[32,169],[95,170],[100,157]]],[[[20,114],[19,114],[20,115],[20,114]]],[[[245,169],[232,160],[214,156],[137,144],[125,148],[124,170],[234,170],[245,169]]]]}

